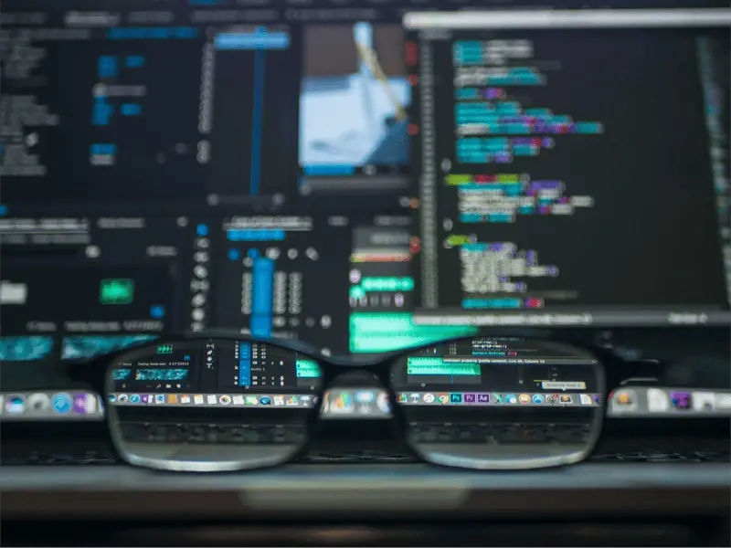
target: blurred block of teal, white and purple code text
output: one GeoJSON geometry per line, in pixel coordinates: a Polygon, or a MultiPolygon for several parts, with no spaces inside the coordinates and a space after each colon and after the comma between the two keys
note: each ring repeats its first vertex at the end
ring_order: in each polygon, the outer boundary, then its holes
{"type": "Polygon", "coordinates": [[[541,59],[532,40],[457,40],[451,61],[454,163],[444,184],[457,192],[458,215],[444,223],[443,246],[459,248],[461,308],[543,308],[546,300],[530,289],[531,280],[557,278],[558,265],[539,261],[537,249],[503,240],[493,229],[488,233],[487,225],[518,223],[526,216],[585,215],[581,210],[591,208],[594,198],[571,195],[570,182],[539,175],[539,164],[531,173],[495,170],[550,153],[566,136],[593,138],[604,125],[535,104],[535,90],[550,85],[560,60],[541,59]],[[458,165],[472,173],[456,173],[458,165]]]}

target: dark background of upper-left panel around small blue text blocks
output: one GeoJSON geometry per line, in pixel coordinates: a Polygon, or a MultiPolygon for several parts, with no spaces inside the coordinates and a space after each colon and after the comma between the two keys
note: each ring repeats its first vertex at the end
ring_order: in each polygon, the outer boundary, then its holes
{"type": "MultiPolygon", "coordinates": [[[[58,114],[56,127],[38,128],[40,142],[33,153],[48,167],[45,177],[3,177],[5,203],[118,202],[135,200],[203,200],[207,192],[205,165],[196,162],[197,111],[200,90],[201,40],[107,40],[40,42],[48,56],[35,74],[40,87],[3,86],[12,93],[37,95],[38,104],[58,114]],[[110,84],[145,86],[147,96],[113,98],[116,113],[105,127],[91,125],[92,89],[97,58],[144,55],[142,68],[124,68],[110,84]],[[174,60],[175,59],[175,60],[174,60]],[[119,113],[123,102],[142,105],[140,116],[119,113]],[[113,166],[90,164],[90,145],[115,143],[113,166]],[[175,144],[192,151],[176,154],[175,144]],[[158,163],[158,154],[165,163],[158,163]]],[[[205,38],[204,38],[205,39],[205,38]]],[[[30,130],[30,128],[28,128],[30,130]]],[[[93,206],[93,205],[91,205],[93,206]]]]}

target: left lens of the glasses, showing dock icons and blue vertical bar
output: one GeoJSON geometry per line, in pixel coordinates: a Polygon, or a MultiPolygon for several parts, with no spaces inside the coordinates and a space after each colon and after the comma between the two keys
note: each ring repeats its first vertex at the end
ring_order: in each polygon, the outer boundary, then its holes
{"type": "Polygon", "coordinates": [[[320,367],[276,345],[160,342],[107,374],[111,430],[132,464],[217,471],[279,464],[302,448],[320,367]]]}

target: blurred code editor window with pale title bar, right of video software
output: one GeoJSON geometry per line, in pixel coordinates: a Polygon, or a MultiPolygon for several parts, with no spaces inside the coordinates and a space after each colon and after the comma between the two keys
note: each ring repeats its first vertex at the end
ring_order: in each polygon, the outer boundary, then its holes
{"type": "Polygon", "coordinates": [[[728,17],[661,28],[660,12],[631,24],[617,13],[406,17],[421,136],[416,323],[729,320],[714,215],[727,205],[728,58],[704,46],[728,43],[728,17]],[[683,97],[672,119],[670,86],[683,97]]]}

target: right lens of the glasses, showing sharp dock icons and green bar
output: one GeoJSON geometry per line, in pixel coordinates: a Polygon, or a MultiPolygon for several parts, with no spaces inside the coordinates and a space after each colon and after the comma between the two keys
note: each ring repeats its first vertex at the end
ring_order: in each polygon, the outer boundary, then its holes
{"type": "Polygon", "coordinates": [[[603,420],[603,379],[582,349],[507,337],[431,346],[392,371],[412,447],[432,462],[475,469],[586,458],[603,420]]]}

